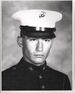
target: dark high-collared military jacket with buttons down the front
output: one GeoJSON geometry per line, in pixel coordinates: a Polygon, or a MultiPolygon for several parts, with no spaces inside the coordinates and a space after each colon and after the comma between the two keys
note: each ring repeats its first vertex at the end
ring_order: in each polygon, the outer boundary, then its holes
{"type": "Polygon", "coordinates": [[[45,64],[34,66],[22,58],[2,72],[2,90],[71,90],[68,77],[45,64]]]}

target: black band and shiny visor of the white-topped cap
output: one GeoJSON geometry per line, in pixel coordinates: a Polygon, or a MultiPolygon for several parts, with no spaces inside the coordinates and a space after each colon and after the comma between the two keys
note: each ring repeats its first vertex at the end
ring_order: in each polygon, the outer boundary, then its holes
{"type": "Polygon", "coordinates": [[[21,36],[24,35],[29,37],[36,37],[36,38],[55,38],[54,32],[56,31],[56,28],[45,28],[45,31],[37,31],[36,27],[30,27],[30,26],[20,26],[21,29],[21,36]]]}

